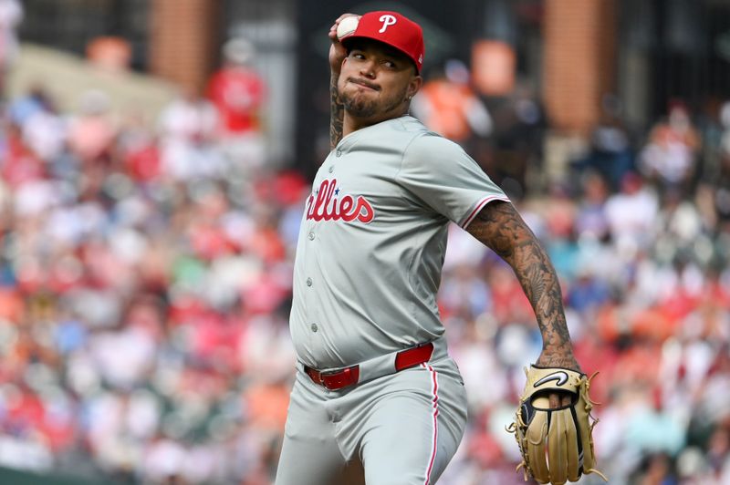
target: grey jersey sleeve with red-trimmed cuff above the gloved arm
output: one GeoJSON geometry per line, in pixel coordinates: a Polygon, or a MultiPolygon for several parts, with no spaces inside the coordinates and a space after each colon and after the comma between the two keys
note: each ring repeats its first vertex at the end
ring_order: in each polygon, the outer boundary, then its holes
{"type": "Polygon", "coordinates": [[[435,212],[466,228],[487,203],[509,201],[459,145],[434,134],[413,139],[398,181],[435,212]]]}

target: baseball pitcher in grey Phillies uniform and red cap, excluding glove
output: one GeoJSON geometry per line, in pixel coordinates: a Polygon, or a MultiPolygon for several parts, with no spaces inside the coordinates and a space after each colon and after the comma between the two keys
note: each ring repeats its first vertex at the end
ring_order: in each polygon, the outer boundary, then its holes
{"type": "MultiPolygon", "coordinates": [[[[340,42],[347,16],[329,32],[332,150],[297,242],[297,376],[276,484],[428,485],[466,424],[436,304],[448,222],[514,269],[543,337],[537,365],[579,365],[534,234],[464,150],[408,115],[422,85],[421,27],[370,12],[340,42]]],[[[550,406],[566,399],[552,393],[550,406]]]]}

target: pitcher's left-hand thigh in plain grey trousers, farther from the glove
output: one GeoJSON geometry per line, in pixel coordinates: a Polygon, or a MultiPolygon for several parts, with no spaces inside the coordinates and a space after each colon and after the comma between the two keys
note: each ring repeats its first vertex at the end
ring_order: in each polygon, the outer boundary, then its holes
{"type": "MultiPolygon", "coordinates": [[[[308,377],[304,377],[308,378],[308,377]]],[[[292,389],[284,443],[276,468],[276,485],[341,485],[358,483],[346,478],[359,473],[346,462],[335,440],[327,402],[297,376],[292,389]]]]}

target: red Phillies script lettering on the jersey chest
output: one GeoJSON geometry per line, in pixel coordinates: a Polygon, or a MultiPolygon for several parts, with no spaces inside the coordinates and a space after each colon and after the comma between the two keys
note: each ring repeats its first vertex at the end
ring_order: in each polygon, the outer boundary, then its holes
{"type": "Polygon", "coordinates": [[[319,190],[309,196],[307,201],[307,220],[360,222],[372,221],[375,212],[370,202],[361,195],[357,199],[349,194],[339,197],[337,179],[324,180],[319,190]],[[316,195],[315,195],[316,193],[316,195]]]}

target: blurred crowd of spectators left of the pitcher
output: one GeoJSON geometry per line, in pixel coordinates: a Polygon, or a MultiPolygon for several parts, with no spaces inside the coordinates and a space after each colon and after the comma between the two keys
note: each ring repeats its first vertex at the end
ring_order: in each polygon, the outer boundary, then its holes
{"type": "Polygon", "coordinates": [[[261,167],[255,73],[207,93],[151,122],[99,91],[70,113],[40,85],[5,103],[2,465],[268,482],[306,182],[261,167]]]}

